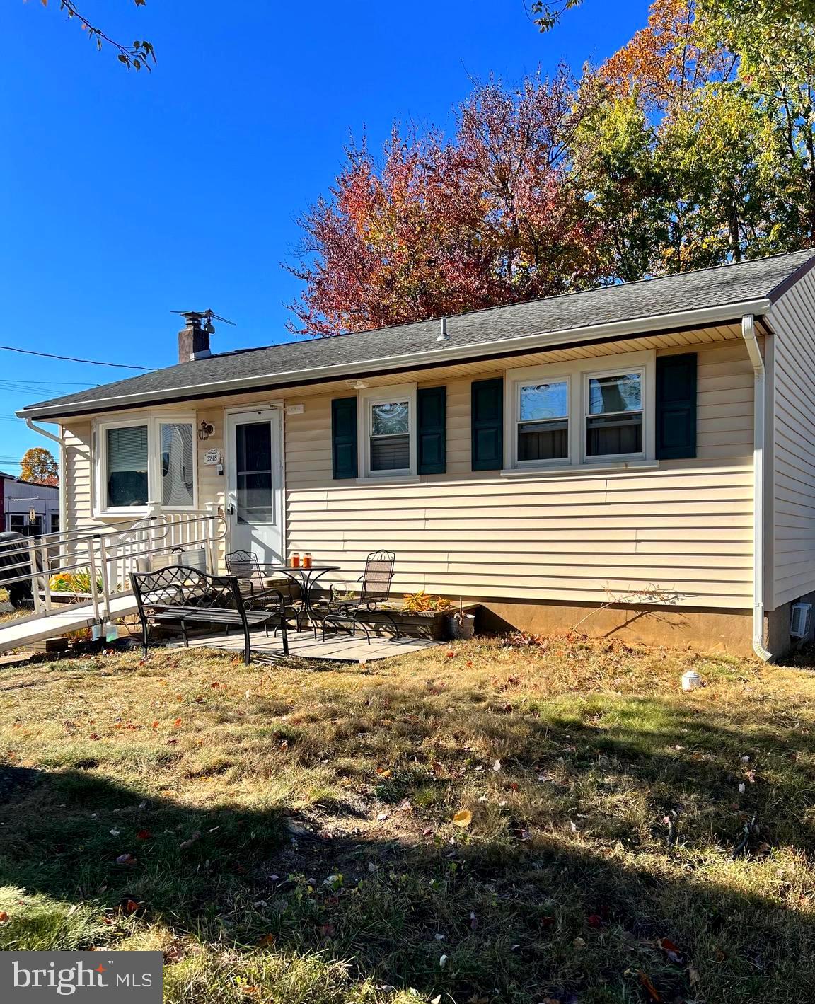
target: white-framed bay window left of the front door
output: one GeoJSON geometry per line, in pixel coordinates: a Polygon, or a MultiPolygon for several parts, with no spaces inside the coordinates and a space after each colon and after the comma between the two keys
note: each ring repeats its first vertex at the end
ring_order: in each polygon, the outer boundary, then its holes
{"type": "Polygon", "coordinates": [[[99,422],[95,432],[97,513],[135,512],[151,503],[194,508],[194,416],[99,422]]]}

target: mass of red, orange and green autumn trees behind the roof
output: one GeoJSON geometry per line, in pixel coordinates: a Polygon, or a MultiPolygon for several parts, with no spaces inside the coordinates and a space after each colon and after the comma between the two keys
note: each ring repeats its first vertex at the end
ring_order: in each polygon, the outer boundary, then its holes
{"type": "Polygon", "coordinates": [[[293,331],[330,335],[815,243],[815,28],[693,0],[580,79],[478,86],[452,137],[362,144],[300,220],[293,331]]]}

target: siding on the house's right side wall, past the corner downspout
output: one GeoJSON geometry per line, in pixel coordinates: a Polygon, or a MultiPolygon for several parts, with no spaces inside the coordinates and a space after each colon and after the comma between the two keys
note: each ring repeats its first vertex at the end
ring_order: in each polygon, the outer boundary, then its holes
{"type": "Polygon", "coordinates": [[[770,608],[815,589],[815,276],[773,306],[774,595],[770,608]]]}

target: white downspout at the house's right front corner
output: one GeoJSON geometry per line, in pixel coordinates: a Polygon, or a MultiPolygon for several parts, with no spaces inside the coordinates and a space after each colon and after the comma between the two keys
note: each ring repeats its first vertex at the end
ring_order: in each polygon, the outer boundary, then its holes
{"type": "Polygon", "coordinates": [[[767,375],[756,338],[753,314],[742,317],[742,337],[753,364],[753,651],[765,663],[773,654],[764,647],[764,455],[767,375]]]}

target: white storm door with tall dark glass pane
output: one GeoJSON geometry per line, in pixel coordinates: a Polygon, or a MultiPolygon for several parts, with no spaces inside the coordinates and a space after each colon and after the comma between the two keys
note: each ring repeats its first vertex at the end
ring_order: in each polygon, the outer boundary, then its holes
{"type": "Polygon", "coordinates": [[[283,560],[283,466],[278,409],[227,415],[227,523],[230,551],[261,564],[283,560]]]}

